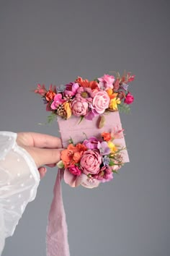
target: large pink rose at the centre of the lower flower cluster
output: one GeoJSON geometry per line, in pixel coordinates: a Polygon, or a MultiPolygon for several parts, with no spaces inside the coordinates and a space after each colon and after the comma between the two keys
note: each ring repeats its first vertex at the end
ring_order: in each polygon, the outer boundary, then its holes
{"type": "Polygon", "coordinates": [[[81,157],[80,166],[84,174],[98,174],[102,157],[97,150],[87,150],[81,157]]]}

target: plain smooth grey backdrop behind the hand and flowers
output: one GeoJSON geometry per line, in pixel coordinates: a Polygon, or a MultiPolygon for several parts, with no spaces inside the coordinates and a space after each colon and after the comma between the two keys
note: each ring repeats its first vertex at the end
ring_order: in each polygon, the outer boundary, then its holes
{"type": "MultiPolygon", "coordinates": [[[[136,74],[131,114],[121,114],[130,163],[97,189],[63,184],[71,256],[168,256],[169,1],[0,1],[1,130],[58,136],[39,126],[37,82],[110,70],[136,74]]],[[[3,256],[45,256],[57,169],[48,170],[3,256]]]]}

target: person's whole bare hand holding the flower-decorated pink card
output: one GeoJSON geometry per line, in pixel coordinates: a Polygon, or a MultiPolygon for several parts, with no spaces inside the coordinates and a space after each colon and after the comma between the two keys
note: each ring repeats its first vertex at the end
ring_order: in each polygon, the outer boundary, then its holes
{"type": "Polygon", "coordinates": [[[17,144],[32,156],[41,178],[47,171],[45,166],[54,167],[61,159],[62,145],[58,137],[35,132],[18,132],[17,144]]]}

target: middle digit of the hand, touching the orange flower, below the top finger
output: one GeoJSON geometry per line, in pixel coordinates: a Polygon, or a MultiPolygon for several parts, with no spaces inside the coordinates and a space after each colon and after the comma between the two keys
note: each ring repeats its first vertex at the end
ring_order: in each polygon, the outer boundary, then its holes
{"type": "Polygon", "coordinates": [[[55,165],[61,160],[61,151],[63,149],[50,148],[28,148],[25,147],[28,153],[32,156],[37,167],[44,165],[55,165]]]}

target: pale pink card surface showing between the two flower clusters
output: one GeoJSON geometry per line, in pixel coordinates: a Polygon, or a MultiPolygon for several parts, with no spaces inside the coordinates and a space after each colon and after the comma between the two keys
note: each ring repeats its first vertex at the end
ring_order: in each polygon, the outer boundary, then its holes
{"type": "MultiPolygon", "coordinates": [[[[70,119],[61,119],[58,116],[58,126],[59,132],[61,134],[61,140],[63,143],[63,148],[67,148],[68,140],[72,139],[75,144],[78,142],[82,142],[90,137],[99,137],[102,132],[112,132],[115,129],[122,129],[122,124],[120,121],[119,111],[109,112],[108,114],[104,114],[105,124],[101,129],[98,128],[98,119],[99,116],[94,117],[92,121],[83,119],[80,122],[79,117],[71,116],[70,119]]],[[[122,136],[121,139],[115,139],[114,143],[117,145],[121,145],[121,147],[125,148],[125,137],[122,136]]],[[[122,157],[124,163],[129,162],[128,151],[122,150],[122,157]]]]}

